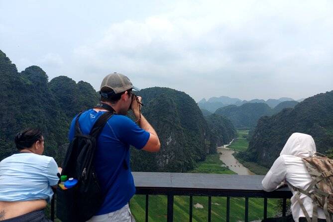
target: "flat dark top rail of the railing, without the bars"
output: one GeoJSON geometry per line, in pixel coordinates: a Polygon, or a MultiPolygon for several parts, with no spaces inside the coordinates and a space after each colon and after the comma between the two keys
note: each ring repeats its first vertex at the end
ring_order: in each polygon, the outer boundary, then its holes
{"type": "Polygon", "coordinates": [[[263,175],[132,172],[137,194],[289,198],[288,187],[265,192],[263,175]]]}

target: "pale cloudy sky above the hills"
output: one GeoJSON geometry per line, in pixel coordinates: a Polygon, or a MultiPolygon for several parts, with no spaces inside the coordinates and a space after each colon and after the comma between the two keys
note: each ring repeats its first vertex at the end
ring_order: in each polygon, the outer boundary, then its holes
{"type": "Polygon", "coordinates": [[[332,0],[0,0],[0,50],[99,91],[122,73],[195,101],[333,90],[332,0]]]}

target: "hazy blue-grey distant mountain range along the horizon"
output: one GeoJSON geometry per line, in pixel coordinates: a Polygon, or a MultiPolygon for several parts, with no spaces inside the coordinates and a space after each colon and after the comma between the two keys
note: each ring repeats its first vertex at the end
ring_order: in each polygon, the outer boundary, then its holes
{"type": "MultiPolygon", "coordinates": [[[[296,100],[297,102],[302,102],[304,100],[304,98],[296,100]]],[[[267,101],[265,100],[260,100],[260,99],[253,99],[250,101],[246,101],[246,100],[240,100],[238,98],[230,98],[230,97],[226,97],[226,96],[221,96],[221,97],[212,97],[210,98],[208,101],[206,101],[206,99],[202,99],[201,101],[198,102],[198,106],[200,109],[202,110],[207,110],[210,111],[212,113],[214,113],[216,110],[218,110],[219,108],[222,107],[226,107],[229,105],[235,105],[235,106],[241,106],[243,104],[246,103],[265,103],[267,104],[270,108],[275,108],[277,105],[279,105],[282,102],[286,102],[286,101],[295,101],[292,98],[286,98],[286,97],[282,97],[280,99],[268,99],[267,101]]]]}

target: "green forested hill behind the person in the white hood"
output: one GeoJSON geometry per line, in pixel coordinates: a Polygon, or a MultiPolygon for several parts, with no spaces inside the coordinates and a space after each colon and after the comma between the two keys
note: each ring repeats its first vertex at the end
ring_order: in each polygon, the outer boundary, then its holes
{"type": "Polygon", "coordinates": [[[294,132],[310,134],[318,152],[325,154],[333,148],[333,91],[307,98],[293,109],[261,117],[249,148],[237,157],[270,167],[294,132]]]}

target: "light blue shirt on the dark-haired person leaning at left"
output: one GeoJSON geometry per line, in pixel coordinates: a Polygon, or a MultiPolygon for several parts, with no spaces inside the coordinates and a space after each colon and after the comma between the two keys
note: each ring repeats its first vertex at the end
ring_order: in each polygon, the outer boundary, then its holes
{"type": "Polygon", "coordinates": [[[13,154],[0,162],[0,201],[52,199],[58,183],[58,165],[52,157],[34,153],[13,154]]]}

